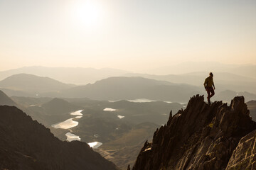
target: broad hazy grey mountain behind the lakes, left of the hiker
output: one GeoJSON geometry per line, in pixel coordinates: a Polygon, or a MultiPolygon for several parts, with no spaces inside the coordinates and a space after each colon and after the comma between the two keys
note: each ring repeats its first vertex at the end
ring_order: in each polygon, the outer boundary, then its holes
{"type": "Polygon", "coordinates": [[[198,94],[199,91],[202,89],[197,86],[173,84],[169,81],[156,81],[142,77],[110,77],[95,84],[61,91],[60,95],[95,100],[148,98],[156,101],[185,102],[189,96],[198,94]]]}

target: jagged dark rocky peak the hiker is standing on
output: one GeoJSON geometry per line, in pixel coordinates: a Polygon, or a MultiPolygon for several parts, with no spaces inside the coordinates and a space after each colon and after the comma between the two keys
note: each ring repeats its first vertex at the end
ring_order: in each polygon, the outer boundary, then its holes
{"type": "Polygon", "coordinates": [[[229,161],[229,166],[239,162],[231,162],[233,150],[256,128],[249,113],[243,97],[235,97],[230,106],[220,101],[209,106],[203,96],[194,96],[184,111],[170,113],[132,169],[226,169],[229,161]]]}

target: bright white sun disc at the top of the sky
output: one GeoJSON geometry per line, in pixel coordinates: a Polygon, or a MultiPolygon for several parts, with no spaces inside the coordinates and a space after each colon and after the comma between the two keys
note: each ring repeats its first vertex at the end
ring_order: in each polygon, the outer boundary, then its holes
{"type": "Polygon", "coordinates": [[[93,27],[101,22],[102,9],[95,1],[84,1],[75,5],[75,20],[83,26],[93,27]]]}

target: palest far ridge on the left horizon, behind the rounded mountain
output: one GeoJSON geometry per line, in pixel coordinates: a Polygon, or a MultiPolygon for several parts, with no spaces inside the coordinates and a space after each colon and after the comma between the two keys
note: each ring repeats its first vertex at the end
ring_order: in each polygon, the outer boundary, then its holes
{"type": "Polygon", "coordinates": [[[68,84],[88,84],[107,77],[121,76],[128,73],[120,69],[93,69],[81,67],[22,67],[0,72],[0,80],[14,74],[33,74],[38,77],[51,77],[68,84]]]}

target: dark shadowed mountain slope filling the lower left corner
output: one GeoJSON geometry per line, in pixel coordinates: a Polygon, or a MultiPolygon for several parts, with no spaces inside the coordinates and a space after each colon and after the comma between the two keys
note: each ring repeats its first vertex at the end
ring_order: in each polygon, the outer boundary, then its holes
{"type": "Polygon", "coordinates": [[[16,107],[0,106],[0,169],[117,169],[84,142],[62,142],[16,107]]]}

